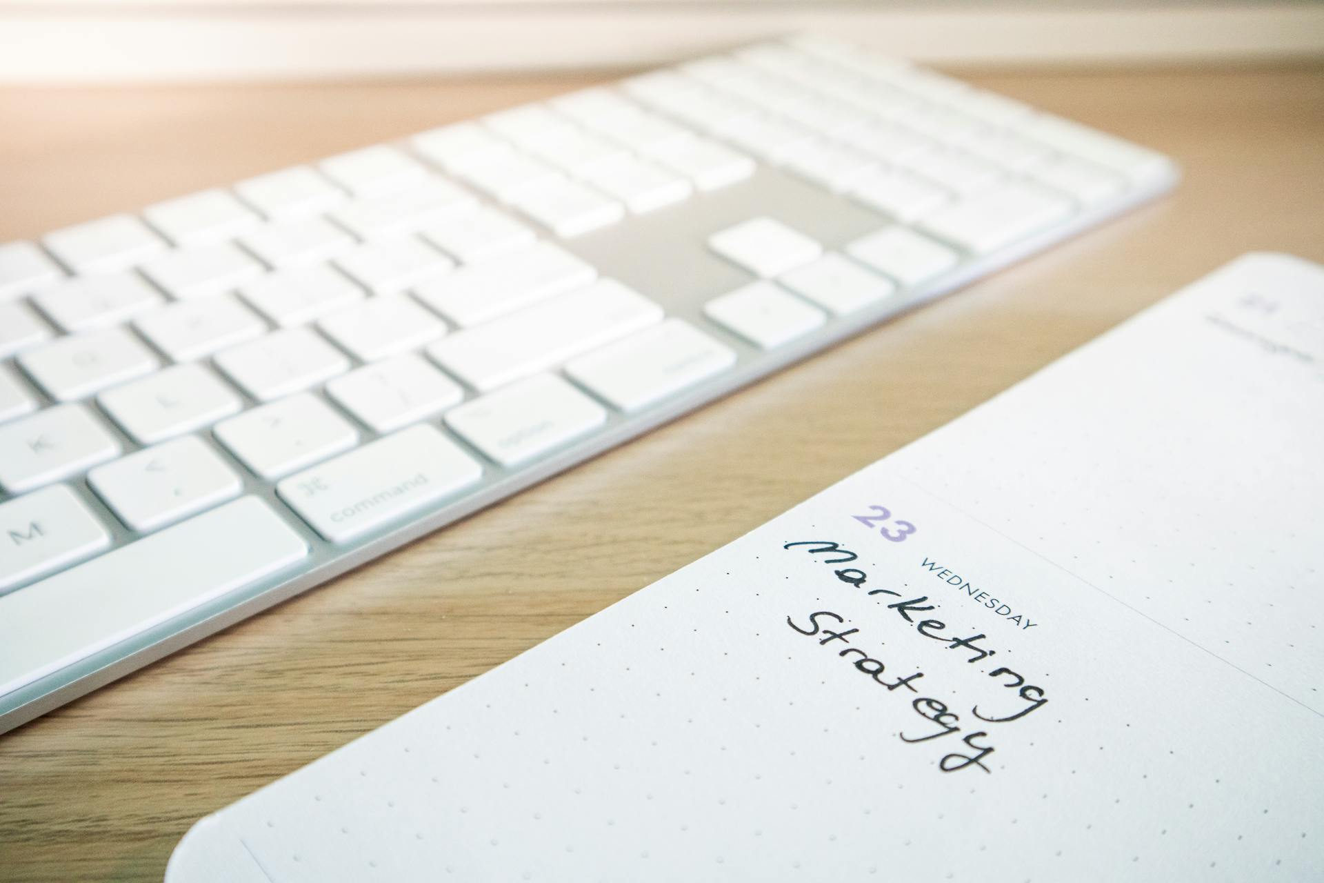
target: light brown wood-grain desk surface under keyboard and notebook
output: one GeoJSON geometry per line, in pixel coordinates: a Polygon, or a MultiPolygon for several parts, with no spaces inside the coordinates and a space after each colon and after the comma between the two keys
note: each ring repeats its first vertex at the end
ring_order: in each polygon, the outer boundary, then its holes
{"type": "MultiPolygon", "coordinates": [[[[1237,254],[1324,261],[1324,68],[967,75],[1157,147],[1186,180],[0,736],[0,880],[160,880],[200,815],[710,552],[1237,254]]],[[[0,240],[591,82],[0,90],[0,240]]]]}

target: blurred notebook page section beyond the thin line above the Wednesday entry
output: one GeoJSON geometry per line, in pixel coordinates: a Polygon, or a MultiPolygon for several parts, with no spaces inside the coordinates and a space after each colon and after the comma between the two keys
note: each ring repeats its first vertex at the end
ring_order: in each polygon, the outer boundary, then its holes
{"type": "Polygon", "coordinates": [[[1242,258],[888,462],[1324,714],[1321,275],[1242,258]]]}

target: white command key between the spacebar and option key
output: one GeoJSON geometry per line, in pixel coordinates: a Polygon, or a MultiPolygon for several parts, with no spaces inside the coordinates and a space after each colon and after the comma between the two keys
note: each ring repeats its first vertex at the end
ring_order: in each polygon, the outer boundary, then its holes
{"type": "Polygon", "coordinates": [[[379,530],[482,477],[478,462],[422,424],[291,475],[277,492],[332,543],[379,530]]]}

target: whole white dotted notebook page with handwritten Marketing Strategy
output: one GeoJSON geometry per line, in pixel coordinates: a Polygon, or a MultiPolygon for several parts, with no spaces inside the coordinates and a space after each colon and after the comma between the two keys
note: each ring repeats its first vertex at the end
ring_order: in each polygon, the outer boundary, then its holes
{"type": "Polygon", "coordinates": [[[203,819],[168,883],[1324,879],[1321,304],[1230,265],[203,819]]]}

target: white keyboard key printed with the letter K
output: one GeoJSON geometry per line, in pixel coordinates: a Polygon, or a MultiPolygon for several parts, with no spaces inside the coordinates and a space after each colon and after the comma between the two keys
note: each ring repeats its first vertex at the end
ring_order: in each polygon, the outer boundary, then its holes
{"type": "Polygon", "coordinates": [[[21,494],[119,454],[119,442],[82,405],[58,405],[0,426],[0,487],[21,494]]]}

